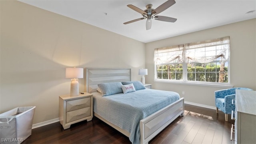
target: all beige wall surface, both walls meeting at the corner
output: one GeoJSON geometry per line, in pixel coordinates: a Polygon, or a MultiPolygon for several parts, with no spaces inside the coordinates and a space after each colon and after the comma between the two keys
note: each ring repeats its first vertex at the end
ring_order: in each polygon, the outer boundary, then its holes
{"type": "Polygon", "coordinates": [[[58,96],[70,91],[65,68],[72,66],[132,68],[132,80],[146,66],[153,88],[214,106],[220,87],[154,82],[154,48],[223,36],[230,36],[231,84],[256,90],[256,19],[144,44],[18,1],[0,0],[0,14],[0,113],[36,106],[34,124],[58,118],[58,96]]]}

